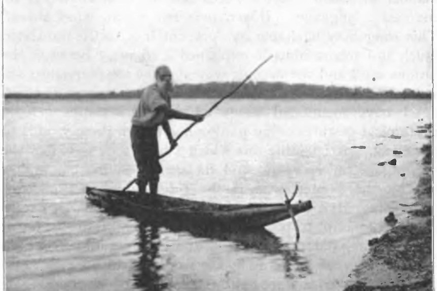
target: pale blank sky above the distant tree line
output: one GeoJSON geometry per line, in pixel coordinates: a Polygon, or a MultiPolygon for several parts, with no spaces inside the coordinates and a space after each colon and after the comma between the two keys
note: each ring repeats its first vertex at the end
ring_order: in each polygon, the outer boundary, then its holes
{"type": "Polygon", "coordinates": [[[5,93],[253,81],[430,92],[431,1],[5,0],[5,93]],[[373,80],[375,78],[375,80],[373,80]]]}

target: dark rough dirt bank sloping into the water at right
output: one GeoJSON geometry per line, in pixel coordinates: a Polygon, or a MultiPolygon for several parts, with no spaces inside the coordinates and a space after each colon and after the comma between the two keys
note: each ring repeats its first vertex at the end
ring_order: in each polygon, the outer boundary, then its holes
{"type": "MultiPolygon", "coordinates": [[[[431,132],[431,124],[425,129],[431,132]]],[[[415,189],[416,203],[406,207],[406,222],[369,240],[370,250],[353,270],[345,291],[432,290],[432,146],[423,145],[423,174],[415,189]],[[408,210],[413,209],[413,210],[408,210]]]]}

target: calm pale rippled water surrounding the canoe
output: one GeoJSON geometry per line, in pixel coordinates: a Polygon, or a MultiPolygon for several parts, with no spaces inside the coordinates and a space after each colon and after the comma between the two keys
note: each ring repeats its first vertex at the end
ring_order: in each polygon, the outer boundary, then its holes
{"type": "MultiPolygon", "coordinates": [[[[213,102],[174,107],[203,112],[213,102]]],[[[291,221],[206,234],[139,225],[90,205],[87,185],[121,189],[135,176],[135,106],[6,101],[8,290],[340,290],[367,240],[388,228],[384,216],[407,219],[398,203],[413,202],[426,140],[414,131],[431,121],[429,100],[227,100],[163,160],[160,193],[173,196],[278,202],[282,188],[299,184],[297,198],[314,208],[297,217],[296,250],[291,221]],[[392,158],[396,166],[377,165],[392,158]]],[[[174,134],[188,124],[172,121],[174,134]]]]}

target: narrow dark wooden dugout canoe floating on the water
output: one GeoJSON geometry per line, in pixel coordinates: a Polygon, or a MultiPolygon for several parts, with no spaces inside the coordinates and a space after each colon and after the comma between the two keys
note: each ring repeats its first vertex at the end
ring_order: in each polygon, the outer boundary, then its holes
{"type": "MultiPolygon", "coordinates": [[[[87,198],[105,210],[147,220],[190,221],[198,226],[221,228],[264,227],[290,217],[284,203],[276,204],[218,204],[158,195],[155,202],[150,195],[87,187],[87,198]]],[[[310,210],[311,201],[291,204],[295,215],[310,210]]]]}

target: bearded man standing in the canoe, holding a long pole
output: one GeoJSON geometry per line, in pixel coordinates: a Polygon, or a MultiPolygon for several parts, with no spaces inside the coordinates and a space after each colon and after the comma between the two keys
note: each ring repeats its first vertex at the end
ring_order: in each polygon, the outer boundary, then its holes
{"type": "Polygon", "coordinates": [[[162,126],[170,147],[174,148],[177,144],[171,134],[168,119],[196,122],[203,120],[201,114],[193,115],[171,108],[170,93],[173,91],[173,84],[171,71],[167,66],[159,66],[155,70],[155,79],[156,82],[145,88],[141,94],[130,131],[133,155],[138,168],[138,190],[140,194],[144,194],[149,184],[151,195],[158,194],[159,174],[162,172],[159,163],[158,127],[162,126]]]}

